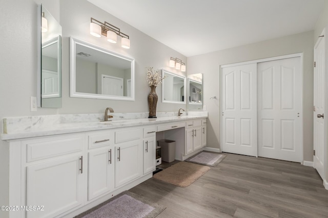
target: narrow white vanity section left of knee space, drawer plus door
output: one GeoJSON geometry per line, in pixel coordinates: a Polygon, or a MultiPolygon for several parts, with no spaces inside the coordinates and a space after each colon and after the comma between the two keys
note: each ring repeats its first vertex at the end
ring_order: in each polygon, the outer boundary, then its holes
{"type": "Polygon", "coordinates": [[[156,126],[144,128],[144,174],[156,169],[156,126]]]}

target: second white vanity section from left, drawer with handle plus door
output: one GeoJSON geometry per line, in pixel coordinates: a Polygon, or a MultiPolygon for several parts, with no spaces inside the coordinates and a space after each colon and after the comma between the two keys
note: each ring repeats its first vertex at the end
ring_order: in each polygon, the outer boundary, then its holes
{"type": "Polygon", "coordinates": [[[114,189],[114,131],[88,133],[88,201],[114,189]]]}

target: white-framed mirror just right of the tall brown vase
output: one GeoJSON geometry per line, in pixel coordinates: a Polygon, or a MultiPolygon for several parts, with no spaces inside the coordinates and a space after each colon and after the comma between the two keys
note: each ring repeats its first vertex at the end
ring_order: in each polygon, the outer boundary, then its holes
{"type": "Polygon", "coordinates": [[[162,102],[185,104],[186,77],[162,69],[162,102]]]}

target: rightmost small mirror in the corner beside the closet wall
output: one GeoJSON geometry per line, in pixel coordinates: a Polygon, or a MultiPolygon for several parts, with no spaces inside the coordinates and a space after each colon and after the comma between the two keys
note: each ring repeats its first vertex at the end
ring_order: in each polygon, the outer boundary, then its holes
{"type": "Polygon", "coordinates": [[[202,74],[188,75],[188,109],[201,109],[203,102],[203,85],[202,85],[202,74]]]}

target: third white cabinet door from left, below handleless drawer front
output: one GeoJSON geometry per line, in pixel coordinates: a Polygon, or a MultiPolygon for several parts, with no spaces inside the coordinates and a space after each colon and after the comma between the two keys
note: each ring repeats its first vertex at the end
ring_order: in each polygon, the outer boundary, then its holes
{"type": "Polygon", "coordinates": [[[142,175],[141,140],[116,144],[115,156],[115,187],[142,175]]]}

